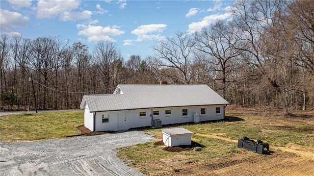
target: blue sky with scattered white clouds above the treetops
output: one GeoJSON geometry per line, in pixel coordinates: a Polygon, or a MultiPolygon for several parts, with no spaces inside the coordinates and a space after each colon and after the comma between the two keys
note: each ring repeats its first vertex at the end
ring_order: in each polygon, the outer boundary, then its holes
{"type": "Polygon", "coordinates": [[[59,35],[90,51],[98,41],[116,43],[127,60],[181,31],[191,34],[231,17],[233,1],[0,0],[0,30],[26,38],[59,35]]]}

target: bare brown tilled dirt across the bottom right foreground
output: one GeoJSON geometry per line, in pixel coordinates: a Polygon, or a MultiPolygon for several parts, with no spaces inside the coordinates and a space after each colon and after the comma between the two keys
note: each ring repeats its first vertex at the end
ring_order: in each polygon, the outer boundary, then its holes
{"type": "Polygon", "coordinates": [[[212,159],[207,163],[190,163],[181,168],[182,175],[197,174],[200,176],[306,176],[313,175],[314,161],[307,158],[297,157],[285,153],[273,153],[271,155],[261,155],[247,153],[226,157],[223,159],[212,159]]]}

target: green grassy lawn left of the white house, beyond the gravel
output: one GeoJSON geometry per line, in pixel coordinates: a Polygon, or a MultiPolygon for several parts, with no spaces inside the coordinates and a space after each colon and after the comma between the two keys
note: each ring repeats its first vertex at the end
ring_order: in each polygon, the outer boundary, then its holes
{"type": "Polygon", "coordinates": [[[0,140],[33,141],[79,134],[84,123],[81,111],[45,112],[0,116],[0,140]]]}

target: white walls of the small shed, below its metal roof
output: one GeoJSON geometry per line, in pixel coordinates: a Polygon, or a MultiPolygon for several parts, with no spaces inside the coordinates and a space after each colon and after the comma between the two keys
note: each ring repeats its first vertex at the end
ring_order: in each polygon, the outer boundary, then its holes
{"type": "Polygon", "coordinates": [[[162,132],[162,142],[169,147],[191,145],[191,134],[169,135],[162,132]]]}

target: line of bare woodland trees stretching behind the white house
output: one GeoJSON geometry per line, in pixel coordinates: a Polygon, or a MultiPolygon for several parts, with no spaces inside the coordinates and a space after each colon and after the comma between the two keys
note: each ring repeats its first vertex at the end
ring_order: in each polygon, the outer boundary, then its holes
{"type": "Polygon", "coordinates": [[[314,3],[237,0],[231,19],[193,34],[177,32],[154,54],[124,59],[114,43],[90,52],[61,37],[1,35],[1,110],[78,108],[84,94],[118,84],[207,84],[231,104],[314,107],[314,3]]]}

